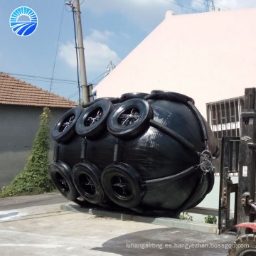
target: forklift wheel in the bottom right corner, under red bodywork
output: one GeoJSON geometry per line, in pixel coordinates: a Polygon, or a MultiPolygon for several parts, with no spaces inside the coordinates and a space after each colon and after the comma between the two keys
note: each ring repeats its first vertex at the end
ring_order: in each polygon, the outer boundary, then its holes
{"type": "Polygon", "coordinates": [[[256,235],[242,235],[233,242],[232,248],[228,250],[228,256],[255,256],[256,235]]]}

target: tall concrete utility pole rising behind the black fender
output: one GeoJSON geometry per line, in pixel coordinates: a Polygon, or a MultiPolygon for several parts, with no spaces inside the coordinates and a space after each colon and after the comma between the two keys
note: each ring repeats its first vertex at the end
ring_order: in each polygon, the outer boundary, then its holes
{"type": "Polygon", "coordinates": [[[81,75],[81,87],[82,87],[82,102],[85,104],[89,102],[89,95],[87,90],[87,79],[85,71],[85,48],[83,47],[82,41],[82,24],[81,24],[81,12],[79,0],[75,0],[75,14],[77,22],[78,31],[78,53],[79,53],[79,63],[80,63],[80,75],[81,75]]]}

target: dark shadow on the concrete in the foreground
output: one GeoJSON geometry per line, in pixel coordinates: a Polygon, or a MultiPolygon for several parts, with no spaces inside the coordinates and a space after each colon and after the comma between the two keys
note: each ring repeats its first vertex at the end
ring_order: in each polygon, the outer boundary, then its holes
{"type": "MultiPolygon", "coordinates": [[[[128,225],[128,224],[127,224],[128,225]]],[[[144,230],[107,240],[102,247],[92,250],[112,252],[123,256],[134,255],[227,255],[235,241],[235,233],[213,235],[178,228],[144,230]]]]}

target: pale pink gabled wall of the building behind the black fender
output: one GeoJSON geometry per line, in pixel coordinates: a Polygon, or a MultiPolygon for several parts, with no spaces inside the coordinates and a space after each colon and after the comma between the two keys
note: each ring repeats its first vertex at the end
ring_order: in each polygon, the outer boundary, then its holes
{"type": "Polygon", "coordinates": [[[166,13],[162,23],[97,85],[97,97],[169,90],[206,103],[255,87],[256,9],[166,13]]]}

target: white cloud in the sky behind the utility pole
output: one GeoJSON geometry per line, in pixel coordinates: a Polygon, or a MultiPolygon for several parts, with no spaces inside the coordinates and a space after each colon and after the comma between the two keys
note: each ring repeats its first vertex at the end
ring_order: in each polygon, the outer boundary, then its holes
{"type": "MultiPolygon", "coordinates": [[[[121,59],[114,50],[107,46],[107,42],[114,37],[111,31],[100,32],[92,30],[90,36],[85,37],[85,65],[88,73],[103,73],[107,70],[110,60],[117,65],[121,59]]],[[[60,45],[59,57],[76,68],[75,43],[68,42],[60,45]]]]}

